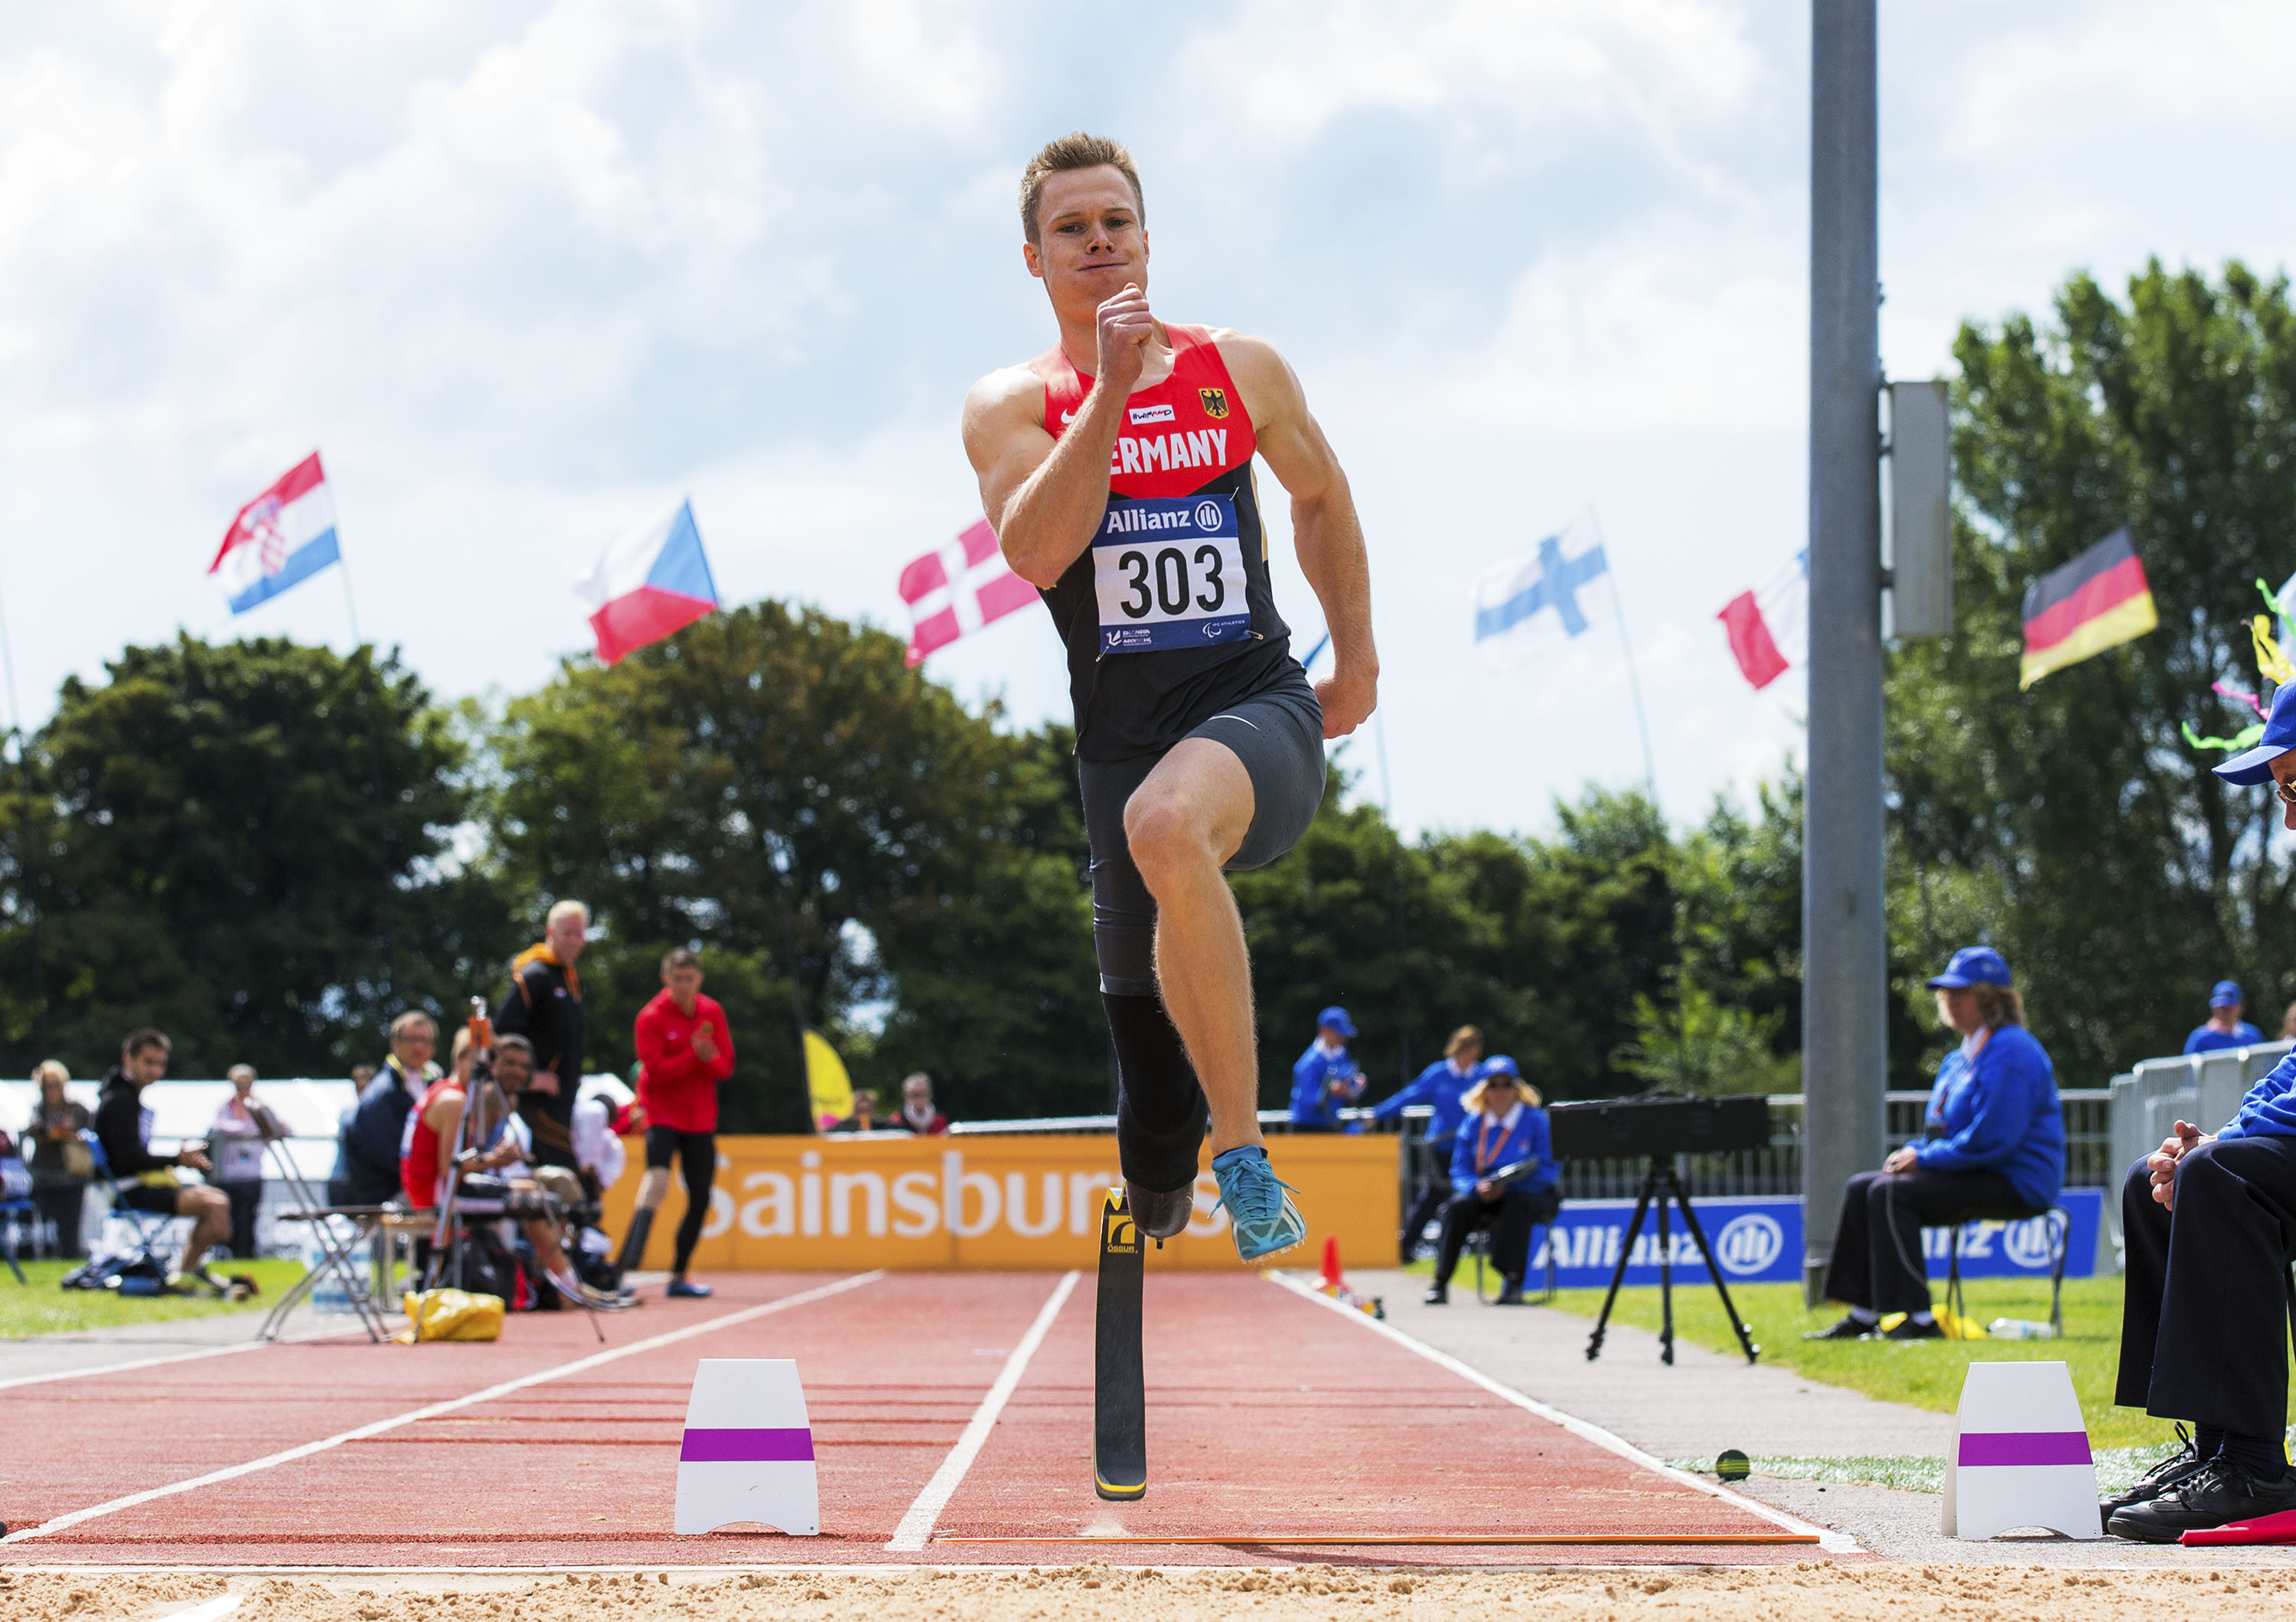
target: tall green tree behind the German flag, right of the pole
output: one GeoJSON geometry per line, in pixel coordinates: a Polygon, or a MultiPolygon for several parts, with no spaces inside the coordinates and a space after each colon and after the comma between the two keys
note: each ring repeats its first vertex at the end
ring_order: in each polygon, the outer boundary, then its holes
{"type": "MultiPolygon", "coordinates": [[[[2287,280],[2087,276],[2053,319],[1956,342],[1956,634],[1890,669],[1892,937],[1908,963],[2000,947],[2066,1084],[2174,1052],[2206,986],[2296,992],[2273,802],[2179,735],[2236,731],[2255,581],[2296,565],[2287,280]],[[2025,586],[2126,524],[2161,627],[2018,692],[2025,586]]],[[[1901,981],[1917,999],[1919,981],[1901,981]]]]}

